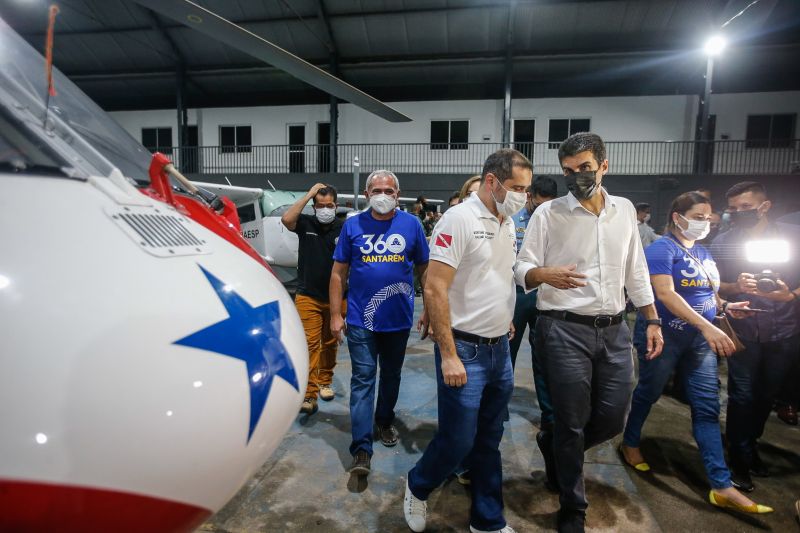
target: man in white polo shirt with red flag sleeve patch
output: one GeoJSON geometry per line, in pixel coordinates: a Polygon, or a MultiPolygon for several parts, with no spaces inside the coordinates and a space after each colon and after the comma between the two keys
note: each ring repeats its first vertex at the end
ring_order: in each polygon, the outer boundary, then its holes
{"type": "Polygon", "coordinates": [[[425,530],[428,496],[463,461],[472,477],[470,531],[513,533],[503,518],[500,460],[514,388],[511,216],[525,204],[531,177],[524,155],[498,150],[483,166],[478,192],[448,209],[431,235],[425,310],[436,342],[439,429],[408,473],[403,512],[412,531],[425,530]]]}

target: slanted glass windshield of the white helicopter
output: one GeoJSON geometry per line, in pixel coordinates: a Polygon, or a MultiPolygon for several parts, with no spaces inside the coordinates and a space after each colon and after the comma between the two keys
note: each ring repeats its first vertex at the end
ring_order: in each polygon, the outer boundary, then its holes
{"type": "Polygon", "coordinates": [[[56,68],[53,82],[56,95],[48,100],[44,58],[0,19],[0,107],[80,174],[108,176],[118,168],[149,181],[150,152],[56,68]]]}

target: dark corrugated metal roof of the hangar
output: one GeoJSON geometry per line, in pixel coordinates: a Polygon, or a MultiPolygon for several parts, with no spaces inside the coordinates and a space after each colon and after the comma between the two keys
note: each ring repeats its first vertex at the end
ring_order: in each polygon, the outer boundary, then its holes
{"type": "MultiPolygon", "coordinates": [[[[343,78],[384,100],[503,93],[509,0],[199,3],[320,66],[327,66],[332,48],[343,78]]],[[[748,3],[518,0],[510,17],[515,95],[556,96],[564,92],[559,84],[570,84],[579,94],[695,92],[704,66],[695,51],[748,3]],[[529,88],[532,84],[536,87],[529,88]]],[[[265,103],[264,95],[282,103],[327,100],[248,54],[133,2],[59,5],[55,64],[107,108],[172,105],[179,61],[189,80],[190,106],[265,103]],[[125,98],[118,94],[121,86],[125,98]]],[[[43,48],[44,4],[4,2],[0,16],[43,48]]],[[[716,90],[800,88],[798,29],[800,2],[759,2],[728,28],[738,51],[718,62],[716,90]]]]}

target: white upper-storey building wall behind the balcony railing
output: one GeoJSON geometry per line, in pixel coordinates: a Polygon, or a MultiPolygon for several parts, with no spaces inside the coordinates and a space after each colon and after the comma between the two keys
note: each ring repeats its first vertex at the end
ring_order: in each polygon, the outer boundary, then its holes
{"type": "MultiPolygon", "coordinates": [[[[535,119],[535,140],[546,142],[550,119],[589,118],[592,131],[598,133],[609,145],[609,159],[614,171],[620,173],[647,173],[649,167],[658,165],[660,172],[687,172],[691,170],[694,146],[676,142],[670,145],[654,143],[639,146],[640,152],[631,155],[630,146],[614,142],[625,141],[692,141],[698,109],[696,95],[664,95],[641,97],[597,97],[597,98],[524,98],[512,101],[512,119],[535,119]],[[641,154],[641,155],[638,155],[641,154]]],[[[401,172],[472,173],[479,169],[476,161],[483,161],[495,146],[471,146],[468,150],[432,150],[430,122],[432,120],[468,120],[469,142],[499,143],[502,137],[502,100],[459,100],[389,103],[413,120],[405,123],[387,122],[351,104],[339,106],[339,144],[385,144],[339,149],[339,171],[349,171],[353,156],[358,155],[363,170],[379,166],[401,172]],[[414,147],[397,147],[397,144],[416,143],[414,147]]],[[[745,138],[747,116],[762,113],[800,114],[800,91],[777,93],[714,94],[711,112],[716,115],[716,138],[741,140],[745,138]],[[723,137],[725,136],[725,137],[723,137]]],[[[144,127],[171,127],[173,145],[177,140],[177,117],[175,110],[148,110],[114,112],[111,115],[133,135],[141,140],[144,127]]],[[[209,147],[200,154],[201,165],[206,172],[288,172],[291,158],[288,144],[288,126],[305,126],[305,142],[317,143],[317,124],[328,122],[329,106],[262,106],[227,107],[189,110],[189,124],[199,128],[199,144],[209,147]],[[247,153],[220,153],[220,126],[252,127],[254,148],[247,153]],[[250,170],[252,171],[252,170],[250,170]]],[[[798,136],[796,133],[795,136],[798,136]]],[[[323,154],[325,155],[325,154],[323,154]]],[[[764,166],[775,167],[783,172],[787,161],[794,154],[773,158],[765,154],[764,166]],[[767,159],[767,156],[769,158],[767,159]]],[[[529,156],[537,172],[558,172],[555,150],[539,145],[529,156]]],[[[731,171],[726,167],[739,159],[762,157],[753,149],[744,148],[744,143],[718,146],[715,154],[715,169],[731,171]]],[[[302,171],[319,170],[316,148],[305,148],[302,171]]],[[[295,169],[297,170],[297,169],[295,169]]]]}

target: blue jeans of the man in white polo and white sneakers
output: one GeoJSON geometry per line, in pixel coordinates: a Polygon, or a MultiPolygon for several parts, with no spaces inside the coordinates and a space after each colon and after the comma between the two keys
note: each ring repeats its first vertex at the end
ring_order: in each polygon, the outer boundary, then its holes
{"type": "Polygon", "coordinates": [[[463,461],[469,465],[472,479],[470,524],[481,530],[502,529],[506,521],[500,439],[514,389],[508,339],[503,337],[491,346],[456,340],[456,352],[467,372],[462,387],[444,384],[438,345],[434,351],[439,429],[408,473],[408,486],[414,496],[427,500],[463,461]]]}

